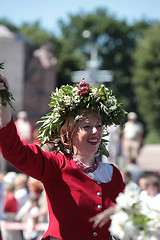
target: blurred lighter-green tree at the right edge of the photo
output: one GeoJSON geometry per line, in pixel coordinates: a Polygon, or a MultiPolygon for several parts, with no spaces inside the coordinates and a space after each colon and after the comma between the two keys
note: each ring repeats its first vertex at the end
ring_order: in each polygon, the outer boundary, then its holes
{"type": "Polygon", "coordinates": [[[146,30],[134,54],[133,83],[147,142],[160,142],[160,24],[146,30]]]}

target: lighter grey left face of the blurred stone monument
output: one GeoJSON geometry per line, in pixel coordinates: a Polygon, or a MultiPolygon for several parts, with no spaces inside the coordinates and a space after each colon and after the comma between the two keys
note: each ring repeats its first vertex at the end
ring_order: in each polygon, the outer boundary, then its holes
{"type": "Polygon", "coordinates": [[[4,61],[4,75],[11,87],[11,91],[16,99],[14,107],[16,112],[23,108],[24,103],[24,76],[25,76],[25,56],[24,43],[14,38],[0,37],[0,62],[4,61]]]}

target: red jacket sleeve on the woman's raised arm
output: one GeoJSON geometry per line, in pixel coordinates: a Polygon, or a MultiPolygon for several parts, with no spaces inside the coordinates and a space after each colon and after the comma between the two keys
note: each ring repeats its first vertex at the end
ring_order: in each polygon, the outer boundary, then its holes
{"type": "Polygon", "coordinates": [[[13,118],[0,129],[0,150],[3,157],[13,166],[40,181],[45,174],[46,165],[49,165],[49,160],[52,158],[51,153],[43,152],[38,145],[28,145],[20,140],[13,118]]]}

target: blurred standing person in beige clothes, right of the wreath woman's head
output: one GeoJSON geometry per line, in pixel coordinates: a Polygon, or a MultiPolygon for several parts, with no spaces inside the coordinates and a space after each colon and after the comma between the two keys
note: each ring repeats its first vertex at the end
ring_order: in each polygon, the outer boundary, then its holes
{"type": "Polygon", "coordinates": [[[137,121],[137,114],[130,112],[122,131],[122,149],[126,164],[137,159],[143,140],[143,125],[137,121]]]}

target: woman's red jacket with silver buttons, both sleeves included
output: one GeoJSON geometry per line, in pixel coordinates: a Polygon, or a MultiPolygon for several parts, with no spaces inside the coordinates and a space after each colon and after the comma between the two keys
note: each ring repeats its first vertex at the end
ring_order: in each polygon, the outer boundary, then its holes
{"type": "Polygon", "coordinates": [[[115,166],[110,182],[96,182],[69,156],[44,152],[38,145],[21,142],[13,120],[0,129],[0,147],[7,161],[44,185],[49,227],[43,239],[52,236],[63,240],[109,240],[109,223],[93,229],[88,220],[112,206],[123,191],[124,182],[115,166]]]}

